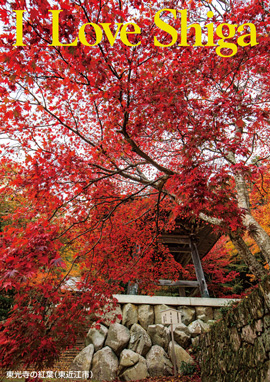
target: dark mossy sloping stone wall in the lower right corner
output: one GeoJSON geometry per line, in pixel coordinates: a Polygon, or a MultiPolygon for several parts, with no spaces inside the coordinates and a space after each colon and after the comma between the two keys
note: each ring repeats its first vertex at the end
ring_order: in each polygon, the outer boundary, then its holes
{"type": "Polygon", "coordinates": [[[198,342],[202,382],[269,382],[269,279],[198,342]]]}

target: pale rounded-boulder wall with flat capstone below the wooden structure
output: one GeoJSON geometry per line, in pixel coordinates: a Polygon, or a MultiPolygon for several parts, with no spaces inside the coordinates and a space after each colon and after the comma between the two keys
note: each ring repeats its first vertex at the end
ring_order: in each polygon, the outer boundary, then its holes
{"type": "Polygon", "coordinates": [[[100,317],[99,327],[94,323],[89,328],[86,347],[74,359],[70,370],[90,370],[93,379],[106,381],[117,377],[130,381],[172,375],[171,330],[162,324],[161,312],[173,308],[181,312],[182,322],[174,327],[176,368],[181,374],[182,363],[194,364],[186,350],[196,345],[200,334],[209,331],[210,325],[220,318],[220,306],[228,301],[150,296],[116,298],[119,305],[115,310],[100,317]],[[179,302],[186,305],[177,305],[179,302]],[[115,323],[110,324],[112,319],[115,323]]]}

